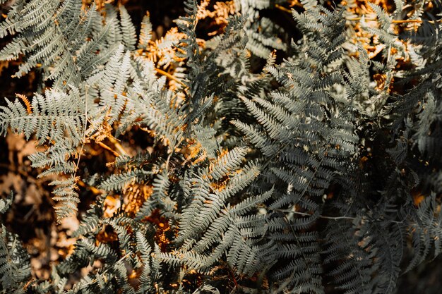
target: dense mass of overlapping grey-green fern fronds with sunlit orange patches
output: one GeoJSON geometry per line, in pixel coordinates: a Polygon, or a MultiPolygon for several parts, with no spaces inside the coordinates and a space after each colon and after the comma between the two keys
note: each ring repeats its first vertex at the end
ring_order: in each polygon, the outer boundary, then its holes
{"type": "MultiPolygon", "coordinates": [[[[138,32],[124,6],[13,1],[0,59],[50,87],[0,106],[0,134],[37,140],[30,160],[59,220],[76,216],[79,183],[98,192],[83,192],[96,201],[48,281],[1,226],[0,293],[386,294],[442,251],[441,8],[398,0],[366,20],[354,1],[304,0],[292,10],[301,38],[286,44],[260,15],[285,1],[233,1],[222,34],[198,39],[209,2],[186,1],[179,32],[153,42],[148,16],[138,32]],[[114,152],[109,176],[82,170],[87,145],[134,128],[150,149],[114,152]],[[109,214],[107,197],[125,206],[109,214]]],[[[0,213],[11,205],[0,199],[0,213]]]]}

